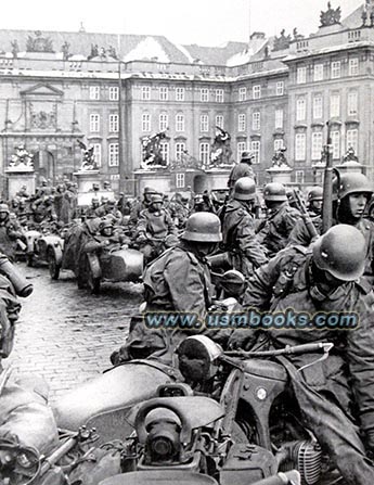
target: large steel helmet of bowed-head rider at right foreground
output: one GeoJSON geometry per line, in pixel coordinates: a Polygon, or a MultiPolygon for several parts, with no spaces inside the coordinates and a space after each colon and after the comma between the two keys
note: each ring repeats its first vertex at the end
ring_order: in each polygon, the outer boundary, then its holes
{"type": "Polygon", "coordinates": [[[343,281],[360,278],[365,267],[366,242],[353,226],[338,224],[313,245],[313,259],[318,268],[328,271],[343,281]]]}

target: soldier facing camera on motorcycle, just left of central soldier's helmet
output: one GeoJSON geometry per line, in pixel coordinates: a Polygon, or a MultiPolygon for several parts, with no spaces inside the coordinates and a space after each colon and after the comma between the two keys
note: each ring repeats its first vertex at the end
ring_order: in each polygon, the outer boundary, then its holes
{"type": "MultiPolygon", "coordinates": [[[[137,242],[146,260],[165,250],[167,237],[177,237],[177,228],[169,213],[163,208],[162,195],[152,195],[149,208],[140,213],[137,234],[137,242]]],[[[171,239],[171,244],[176,242],[176,238],[171,239]]]]}

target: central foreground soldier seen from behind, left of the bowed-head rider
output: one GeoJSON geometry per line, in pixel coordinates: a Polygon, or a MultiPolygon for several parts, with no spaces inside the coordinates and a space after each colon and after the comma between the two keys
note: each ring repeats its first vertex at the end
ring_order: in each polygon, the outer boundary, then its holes
{"type": "MultiPolygon", "coordinates": [[[[211,305],[214,286],[210,281],[206,256],[211,254],[222,240],[220,220],[215,214],[196,213],[189,217],[181,243],[166,251],[145,270],[145,312],[195,314],[201,320],[211,305]]],[[[112,355],[115,363],[131,358],[151,358],[165,365],[172,365],[175,349],[189,334],[202,329],[147,330],[139,321],[130,331],[124,347],[112,355]]],[[[214,339],[222,334],[215,331],[214,339]]]]}

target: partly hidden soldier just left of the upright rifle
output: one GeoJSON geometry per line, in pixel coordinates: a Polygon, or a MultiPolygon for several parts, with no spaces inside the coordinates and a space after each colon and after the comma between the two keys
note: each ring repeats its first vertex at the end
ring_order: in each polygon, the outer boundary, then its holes
{"type": "MultiPolygon", "coordinates": [[[[323,189],[322,187],[313,187],[308,193],[308,213],[311,218],[317,232],[321,234],[322,230],[322,204],[323,204],[323,189]]],[[[291,231],[288,239],[288,246],[294,244],[301,244],[309,246],[312,242],[308,228],[304,219],[299,219],[294,229],[291,231]]]]}

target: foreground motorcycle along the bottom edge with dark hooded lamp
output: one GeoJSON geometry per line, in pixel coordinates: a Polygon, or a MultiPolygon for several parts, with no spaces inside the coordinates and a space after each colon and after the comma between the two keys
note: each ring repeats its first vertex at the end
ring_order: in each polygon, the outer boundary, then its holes
{"type": "Polygon", "coordinates": [[[16,485],[300,485],[297,471],[276,472],[270,451],[235,443],[224,412],[224,405],[186,384],[162,384],[156,397],[130,410],[103,411],[78,432],[61,431],[47,456],[0,443],[0,451],[13,454],[0,475],[16,485]],[[95,431],[114,424],[108,442],[95,431]]]}

